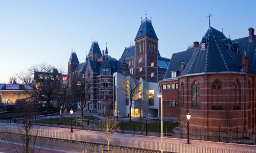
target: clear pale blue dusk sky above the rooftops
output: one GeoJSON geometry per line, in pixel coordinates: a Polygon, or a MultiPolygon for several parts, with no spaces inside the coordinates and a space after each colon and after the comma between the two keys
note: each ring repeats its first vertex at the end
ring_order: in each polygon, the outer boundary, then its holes
{"type": "Polygon", "coordinates": [[[92,39],[119,59],[134,44],[141,17],[152,17],[162,57],[201,41],[211,27],[231,39],[256,29],[256,1],[13,1],[0,0],[0,83],[48,63],[67,70],[71,48],[84,62],[92,39]]]}

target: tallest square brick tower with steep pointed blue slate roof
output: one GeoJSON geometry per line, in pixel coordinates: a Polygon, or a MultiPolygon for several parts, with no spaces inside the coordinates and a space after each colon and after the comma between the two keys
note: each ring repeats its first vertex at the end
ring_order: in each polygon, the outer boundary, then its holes
{"type": "Polygon", "coordinates": [[[135,77],[158,82],[158,38],[150,19],[141,20],[135,41],[135,77]]]}

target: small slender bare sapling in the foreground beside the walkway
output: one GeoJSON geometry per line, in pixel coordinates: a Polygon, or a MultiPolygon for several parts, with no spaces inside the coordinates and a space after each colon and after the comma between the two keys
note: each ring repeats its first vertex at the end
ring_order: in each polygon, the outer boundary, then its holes
{"type": "Polygon", "coordinates": [[[119,130],[119,122],[117,120],[111,119],[112,115],[110,113],[110,103],[110,101],[104,101],[104,104],[106,106],[106,120],[102,121],[102,123],[99,124],[101,131],[104,132],[106,136],[106,146],[108,152],[110,151],[109,144],[113,141],[116,133],[119,130]]]}

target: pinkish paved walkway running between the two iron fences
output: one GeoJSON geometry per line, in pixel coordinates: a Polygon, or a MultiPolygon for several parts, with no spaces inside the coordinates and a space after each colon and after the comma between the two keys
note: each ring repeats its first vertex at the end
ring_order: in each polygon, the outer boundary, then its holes
{"type": "MultiPolygon", "coordinates": [[[[0,123],[0,126],[12,126],[15,127],[15,124],[6,124],[6,123],[0,123]]],[[[36,127],[38,128],[38,127],[36,127]]],[[[44,131],[56,131],[61,133],[70,133],[70,129],[65,128],[59,128],[59,127],[46,127],[46,126],[40,126],[40,130],[44,131]]],[[[82,134],[84,136],[92,136],[97,139],[97,142],[105,142],[104,140],[104,133],[102,132],[95,132],[95,131],[86,131],[86,130],[73,130],[74,134],[82,134]]],[[[160,137],[152,137],[152,136],[140,136],[140,135],[129,135],[129,134],[116,134],[115,140],[113,144],[118,145],[131,145],[133,147],[136,147],[135,145],[138,145],[138,147],[142,146],[142,144],[136,144],[136,140],[144,141],[145,143],[152,143],[152,142],[161,142],[160,137]],[[115,140],[121,140],[125,139],[127,141],[116,141],[115,140]],[[122,144],[124,143],[124,144],[122,144]],[[130,143],[130,144],[129,144],[130,143]]],[[[256,152],[256,146],[255,145],[245,145],[245,144],[233,144],[233,143],[222,143],[222,142],[210,142],[210,141],[198,141],[198,140],[190,140],[190,144],[187,144],[186,139],[176,139],[176,138],[163,138],[164,143],[169,144],[182,144],[182,145],[196,145],[196,146],[203,146],[203,147],[216,147],[216,148],[228,148],[228,149],[238,149],[238,150],[248,150],[248,151],[255,151],[256,152]]]]}

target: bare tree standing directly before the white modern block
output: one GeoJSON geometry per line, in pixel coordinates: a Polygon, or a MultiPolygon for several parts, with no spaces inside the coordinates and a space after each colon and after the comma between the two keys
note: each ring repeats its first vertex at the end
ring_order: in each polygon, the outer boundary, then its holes
{"type": "Polygon", "coordinates": [[[130,122],[132,122],[132,105],[134,104],[135,100],[142,99],[142,80],[137,80],[135,77],[130,75],[126,78],[126,82],[124,82],[121,86],[122,91],[121,93],[124,94],[129,98],[130,106],[130,122]]]}

